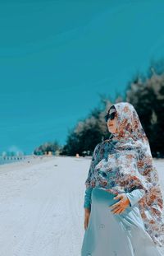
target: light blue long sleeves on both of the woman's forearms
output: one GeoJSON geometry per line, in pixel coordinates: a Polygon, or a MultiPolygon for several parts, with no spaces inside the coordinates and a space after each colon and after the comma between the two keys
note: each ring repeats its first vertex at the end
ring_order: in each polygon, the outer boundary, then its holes
{"type": "MultiPolygon", "coordinates": [[[[87,188],[85,189],[84,194],[84,208],[91,208],[91,194],[92,194],[93,188],[87,188]]],[[[141,198],[144,197],[144,189],[134,189],[131,192],[125,193],[127,198],[130,200],[130,207],[133,207],[141,198]]]]}

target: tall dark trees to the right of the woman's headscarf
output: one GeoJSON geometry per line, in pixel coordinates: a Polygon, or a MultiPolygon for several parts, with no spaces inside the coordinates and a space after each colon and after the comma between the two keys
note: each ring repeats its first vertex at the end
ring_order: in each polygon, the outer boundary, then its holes
{"type": "MultiPolygon", "coordinates": [[[[161,63],[161,62],[160,62],[161,63]]],[[[153,63],[147,77],[138,75],[126,88],[150,142],[153,156],[164,156],[164,65],[153,63]],[[160,68],[161,67],[161,68],[160,68]],[[163,68],[163,72],[162,72],[163,68]]]]}

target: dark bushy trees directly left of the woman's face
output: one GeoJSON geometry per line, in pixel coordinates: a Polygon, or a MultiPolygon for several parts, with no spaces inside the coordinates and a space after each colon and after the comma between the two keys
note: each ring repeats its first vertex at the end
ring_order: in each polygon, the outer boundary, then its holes
{"type": "MultiPolygon", "coordinates": [[[[122,99],[119,96],[116,100],[121,101],[122,99]]],[[[94,147],[110,135],[104,116],[111,105],[111,100],[101,95],[100,105],[92,109],[86,119],[79,120],[69,131],[62,154],[75,156],[76,153],[79,153],[80,156],[84,156],[89,153],[92,155],[94,147]]]]}

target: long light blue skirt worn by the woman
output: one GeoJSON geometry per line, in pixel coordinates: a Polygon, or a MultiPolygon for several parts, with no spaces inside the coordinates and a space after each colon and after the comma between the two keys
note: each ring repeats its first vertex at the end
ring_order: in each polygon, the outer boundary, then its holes
{"type": "Polygon", "coordinates": [[[144,230],[138,205],[114,214],[109,206],[120,201],[114,197],[103,188],[93,188],[81,256],[162,256],[144,230]]]}

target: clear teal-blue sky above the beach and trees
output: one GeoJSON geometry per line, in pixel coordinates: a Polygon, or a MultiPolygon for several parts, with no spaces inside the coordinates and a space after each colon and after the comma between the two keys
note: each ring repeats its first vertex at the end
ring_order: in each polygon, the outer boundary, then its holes
{"type": "Polygon", "coordinates": [[[164,1],[0,0],[0,152],[69,128],[164,56],[164,1]]]}

